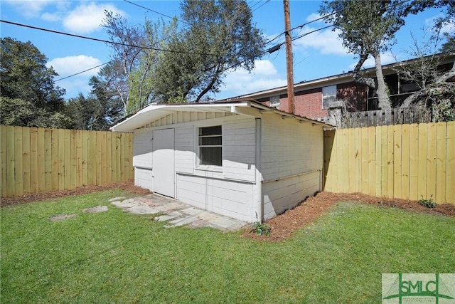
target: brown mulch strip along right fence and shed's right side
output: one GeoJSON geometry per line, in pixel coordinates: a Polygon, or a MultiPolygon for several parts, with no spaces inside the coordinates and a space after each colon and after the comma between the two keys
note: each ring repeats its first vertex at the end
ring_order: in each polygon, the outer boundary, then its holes
{"type": "Polygon", "coordinates": [[[296,229],[309,224],[310,221],[320,216],[328,207],[338,201],[358,201],[363,204],[387,206],[428,214],[455,216],[455,204],[438,204],[436,208],[429,209],[421,206],[417,201],[406,199],[385,199],[360,193],[320,192],[316,196],[309,197],[294,209],[287,210],[284,214],[280,214],[266,221],[266,224],[272,229],[269,237],[257,236],[257,234],[250,233],[248,229],[245,230],[243,236],[264,241],[282,241],[287,239],[296,229]]]}

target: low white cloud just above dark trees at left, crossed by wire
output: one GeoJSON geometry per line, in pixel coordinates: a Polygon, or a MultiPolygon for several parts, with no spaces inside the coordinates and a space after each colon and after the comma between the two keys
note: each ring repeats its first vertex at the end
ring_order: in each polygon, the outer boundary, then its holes
{"type": "MultiPolygon", "coordinates": [[[[79,55],[79,56],[67,56],[63,58],[53,58],[53,60],[46,63],[47,67],[53,66],[54,70],[60,75],[65,77],[80,73],[82,70],[87,70],[100,65],[101,61],[91,56],[79,55]]],[[[88,76],[96,75],[100,68],[94,68],[87,72],[81,73],[79,77],[87,78],[88,76]]]]}

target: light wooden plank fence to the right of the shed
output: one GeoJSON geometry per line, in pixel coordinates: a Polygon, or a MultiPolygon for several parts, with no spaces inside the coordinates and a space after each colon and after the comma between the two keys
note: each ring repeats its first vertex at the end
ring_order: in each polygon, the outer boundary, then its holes
{"type": "Polygon", "coordinates": [[[324,133],[325,191],[455,204],[455,122],[324,133]]]}

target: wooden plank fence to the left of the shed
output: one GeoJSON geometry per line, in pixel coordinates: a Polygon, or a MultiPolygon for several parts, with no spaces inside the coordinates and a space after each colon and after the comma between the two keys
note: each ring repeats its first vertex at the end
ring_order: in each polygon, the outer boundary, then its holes
{"type": "Polygon", "coordinates": [[[133,134],[0,126],[1,196],[134,178],[133,134]]]}

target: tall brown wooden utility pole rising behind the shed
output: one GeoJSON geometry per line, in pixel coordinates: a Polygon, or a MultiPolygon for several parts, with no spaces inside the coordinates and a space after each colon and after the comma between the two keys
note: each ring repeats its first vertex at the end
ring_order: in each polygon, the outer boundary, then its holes
{"type": "Polygon", "coordinates": [[[294,70],[292,68],[292,40],[291,19],[289,14],[289,0],[283,0],[284,4],[284,33],[286,37],[286,70],[287,70],[287,112],[295,114],[294,105],[294,70]]]}

